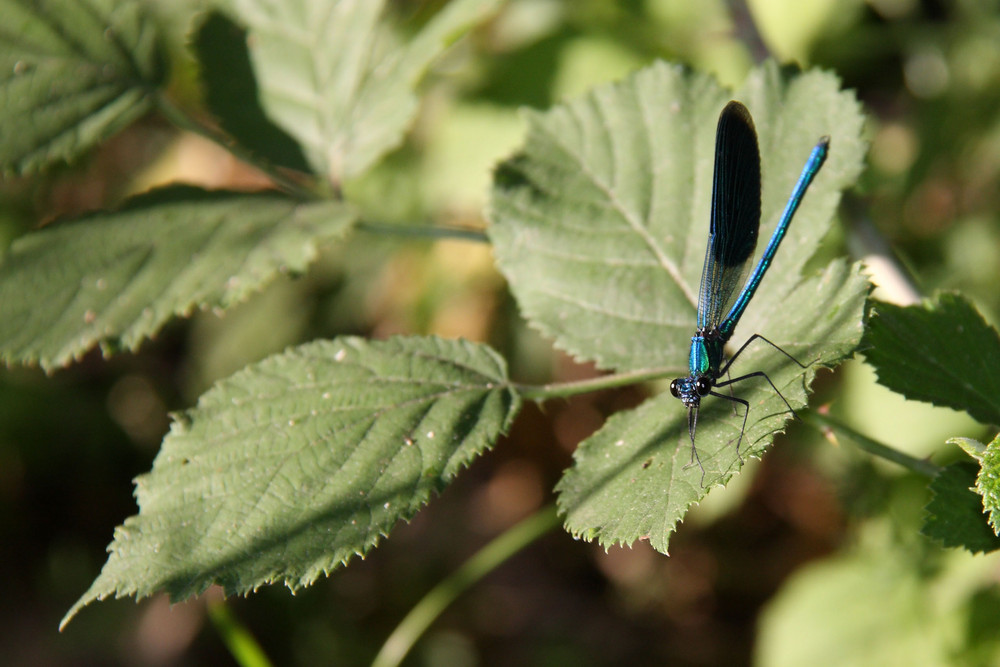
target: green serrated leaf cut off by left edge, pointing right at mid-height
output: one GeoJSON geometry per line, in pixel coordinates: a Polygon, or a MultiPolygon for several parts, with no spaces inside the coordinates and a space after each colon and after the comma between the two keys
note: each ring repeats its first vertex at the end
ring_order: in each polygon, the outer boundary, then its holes
{"type": "Polygon", "coordinates": [[[175,315],[303,271],[353,221],[337,202],[178,186],[26,234],[0,264],[0,359],[51,369],[96,343],[135,349],[175,315]]]}

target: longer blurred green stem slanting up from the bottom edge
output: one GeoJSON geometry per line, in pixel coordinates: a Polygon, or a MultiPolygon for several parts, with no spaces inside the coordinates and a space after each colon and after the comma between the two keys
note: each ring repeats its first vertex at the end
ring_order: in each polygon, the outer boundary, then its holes
{"type": "Polygon", "coordinates": [[[559,525],[555,506],[547,507],[509,529],[435,586],[396,626],[372,667],[395,667],[448,605],[512,555],[559,525]]]}

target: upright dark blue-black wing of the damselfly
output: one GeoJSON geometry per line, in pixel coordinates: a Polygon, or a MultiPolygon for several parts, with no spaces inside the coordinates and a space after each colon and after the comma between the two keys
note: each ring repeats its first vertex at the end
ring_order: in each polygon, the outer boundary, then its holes
{"type": "Polygon", "coordinates": [[[729,312],[750,270],[760,229],[760,150],[750,112],[730,102],[715,133],[712,225],[698,294],[698,328],[729,312]]]}

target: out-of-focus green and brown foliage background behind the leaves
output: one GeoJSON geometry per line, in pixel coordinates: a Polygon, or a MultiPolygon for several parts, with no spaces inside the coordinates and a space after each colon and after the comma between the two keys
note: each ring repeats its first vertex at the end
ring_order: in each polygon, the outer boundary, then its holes
{"type": "MultiPolygon", "coordinates": [[[[189,108],[199,91],[184,44],[200,4],[155,5],[172,26],[172,93],[189,108]]],[[[396,0],[391,11],[415,26],[441,4],[396,0]]],[[[482,227],[490,169],[521,140],[519,107],[547,108],[655,58],[733,85],[768,55],[836,72],[870,117],[868,171],[821,252],[868,259],[880,298],[961,290],[996,322],[996,0],[511,0],[437,64],[406,144],[348,191],[369,222],[482,227]],[[909,282],[882,268],[887,259],[909,282]]],[[[80,163],[4,180],[0,246],[178,180],[267,183],[151,116],[80,163]]],[[[0,372],[3,662],[231,661],[206,615],[211,592],[172,608],[107,601],[61,635],[56,626],[98,573],[114,526],[135,512],[131,479],[149,469],[169,411],[289,344],[403,332],[489,342],[520,381],[593,373],[526,329],[488,246],[364,231],[308,275],[224,317],[175,322],[138,354],[95,352],[52,376],[0,372]]],[[[947,437],[992,437],[880,389],[861,362],[816,388],[814,408],[918,456],[947,462],[959,458],[947,437]]],[[[552,501],[581,438],[641,398],[631,389],[527,407],[496,451],[366,560],[294,598],[271,588],[232,610],[275,664],[366,664],[435,583],[552,501]]],[[[689,515],[669,558],[642,543],[605,553],[551,534],[462,597],[407,664],[995,664],[997,558],[921,537],[926,502],[925,481],[792,428],[689,515]]]]}

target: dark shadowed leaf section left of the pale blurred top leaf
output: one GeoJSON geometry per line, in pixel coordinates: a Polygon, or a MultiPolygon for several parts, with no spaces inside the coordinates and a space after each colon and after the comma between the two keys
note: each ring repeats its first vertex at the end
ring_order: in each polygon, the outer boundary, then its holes
{"type": "Polygon", "coordinates": [[[274,125],[260,106],[260,91],[247,50],[246,31],[210,12],[194,36],[205,103],[236,141],[270,162],[309,171],[302,149],[274,125]]]}

